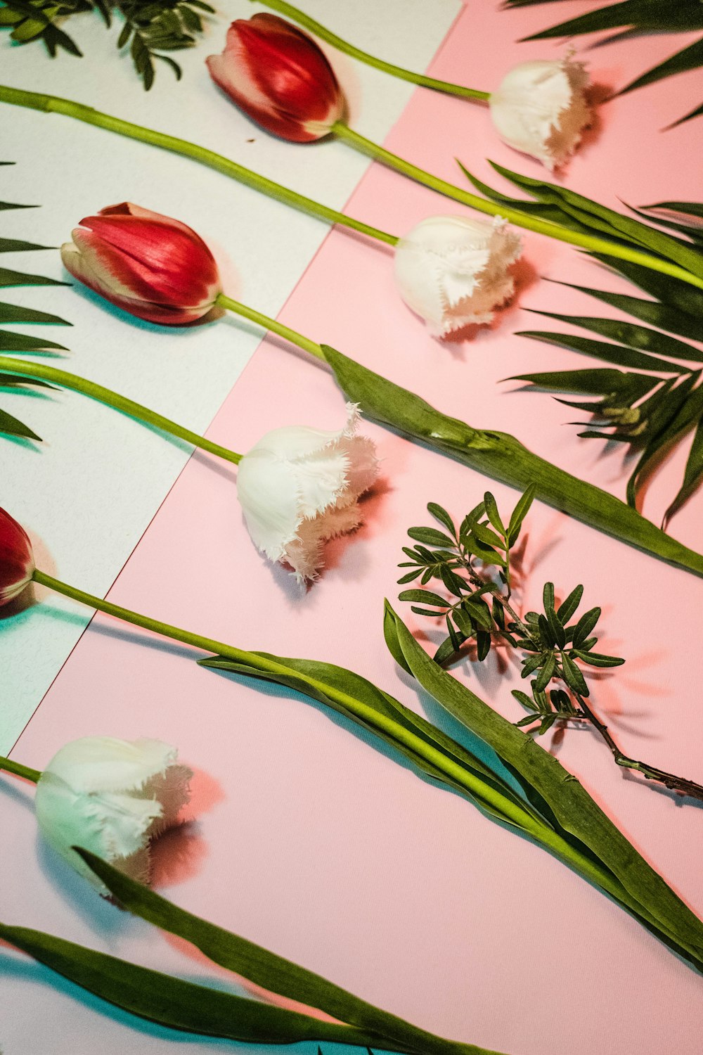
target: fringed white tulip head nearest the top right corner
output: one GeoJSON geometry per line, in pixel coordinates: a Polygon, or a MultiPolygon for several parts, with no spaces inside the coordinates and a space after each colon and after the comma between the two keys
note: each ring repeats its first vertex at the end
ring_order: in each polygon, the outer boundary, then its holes
{"type": "Polygon", "coordinates": [[[552,172],[577,149],[590,120],[587,85],[586,68],[568,57],[521,62],[488,100],[497,134],[552,172]]]}

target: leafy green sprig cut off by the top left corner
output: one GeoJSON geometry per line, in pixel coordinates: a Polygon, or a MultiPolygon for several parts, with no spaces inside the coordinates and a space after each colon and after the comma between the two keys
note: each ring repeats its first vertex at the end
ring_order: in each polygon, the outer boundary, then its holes
{"type": "Polygon", "coordinates": [[[3,0],[0,26],[12,30],[11,37],[17,43],[43,41],[52,57],[59,50],[81,56],[76,41],[61,26],[72,16],[86,12],[97,12],[106,28],[115,15],[121,20],[117,47],[129,51],[149,91],[154,83],[155,59],[170,65],[180,80],[179,64],[160,53],[192,47],[202,33],[202,16],[214,15],[215,8],[203,0],[3,0]]]}

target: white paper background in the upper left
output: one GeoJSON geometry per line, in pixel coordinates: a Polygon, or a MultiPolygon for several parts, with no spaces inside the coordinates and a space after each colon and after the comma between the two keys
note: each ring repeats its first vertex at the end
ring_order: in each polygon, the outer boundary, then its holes
{"type": "MultiPolygon", "coordinates": [[[[461,7],[460,0],[337,0],[335,30],[369,51],[411,69],[427,66],[461,7]]],[[[229,20],[258,4],[231,0],[206,40],[176,58],[183,80],[157,63],[145,94],[130,60],[114,46],[98,16],[72,19],[70,32],[86,57],[43,45],[11,45],[0,37],[1,79],[46,92],[201,143],[309,197],[340,208],[368,161],[348,147],[297,147],[255,128],[213,87],[203,59],[220,51],[229,20]],[[253,141],[249,141],[253,140],[253,141]]],[[[329,17],[324,0],[306,11],[329,17]]],[[[412,85],[346,56],[335,69],[351,100],[354,127],[382,139],[412,85]]],[[[154,148],[59,115],[0,104],[0,197],[41,205],[1,214],[5,236],[58,246],[78,220],[131,199],[190,224],[209,242],[232,295],[275,315],[325,237],[327,226],[200,167],[154,148]]],[[[363,217],[360,217],[363,218],[363,217]]],[[[62,273],[58,253],[3,254],[11,268],[62,273]]],[[[27,303],[71,321],[50,327],[71,352],[58,365],[130,396],[201,431],[247,364],[260,332],[230,318],[173,330],[130,321],[80,288],[17,288],[0,298],[27,303]]],[[[36,326],[18,326],[35,333],[36,326]]],[[[324,334],[310,334],[324,338],[324,334]]],[[[275,378],[272,378],[275,384],[275,378]]],[[[292,394],[300,399],[300,394],[292,394]]],[[[190,447],[70,392],[2,394],[4,409],[42,436],[41,445],[0,440],[0,505],[20,520],[47,572],[103,596],[185,463],[190,447]]],[[[237,448],[237,437],[231,437],[237,448]]],[[[193,552],[183,559],[194,559],[193,552]]],[[[174,568],[174,574],[178,574],[174,568]]],[[[53,598],[0,620],[0,753],[6,753],[78,640],[91,612],[53,598]]]]}

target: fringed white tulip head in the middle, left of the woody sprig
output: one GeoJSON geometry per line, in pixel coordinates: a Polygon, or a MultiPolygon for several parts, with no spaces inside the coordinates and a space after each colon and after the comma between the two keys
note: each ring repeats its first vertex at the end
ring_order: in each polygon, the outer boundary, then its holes
{"type": "Polygon", "coordinates": [[[290,564],[298,582],[316,578],[324,542],[362,523],[357,498],[378,463],[373,442],[355,435],[358,417],[348,403],[337,433],[274,428],[239,462],[237,494],[249,534],[270,560],[290,564]]]}

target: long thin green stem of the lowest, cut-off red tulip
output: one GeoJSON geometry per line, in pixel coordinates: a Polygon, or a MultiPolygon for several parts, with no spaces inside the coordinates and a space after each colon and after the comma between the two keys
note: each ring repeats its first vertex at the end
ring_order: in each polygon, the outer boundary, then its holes
{"type": "Polygon", "coordinates": [[[233,659],[235,663],[254,667],[257,670],[273,675],[274,678],[276,676],[282,678],[290,677],[294,673],[298,682],[305,682],[310,687],[312,690],[310,695],[314,699],[319,699],[320,695],[329,696],[338,703],[345,711],[356,716],[365,726],[371,726],[387,735],[390,734],[398,744],[402,744],[405,748],[409,748],[413,753],[429,762],[437,770],[446,773],[453,783],[461,784],[471,798],[479,802],[484,802],[493,813],[496,811],[500,812],[507,824],[526,831],[536,842],[571,865],[571,867],[581,872],[586,879],[595,883],[601,889],[604,889],[607,894],[616,898],[616,900],[631,907],[633,912],[641,914],[640,907],[634,906],[632,899],[629,898],[622,884],[612,876],[609,869],[595,861],[592,856],[580,852],[578,847],[573,846],[566,839],[563,839],[546,823],[539,821],[529,810],[522,809],[514,802],[501,794],[495,787],[484,783],[472,773],[467,772],[464,766],[452,762],[451,759],[447,759],[445,754],[436,750],[436,748],[421,736],[415,735],[411,730],[394,722],[387,715],[379,714],[363,701],[348,695],[334,686],[318,682],[309,675],[300,674],[299,671],[293,672],[291,668],[285,666],[284,661],[278,663],[275,659],[255,652],[247,652],[243,649],[237,649],[232,645],[226,645],[214,638],[203,637],[200,634],[181,630],[179,627],[171,626],[168,622],[161,622],[159,619],[139,615],[130,609],[121,608],[119,605],[113,605],[111,601],[102,600],[99,597],[85,593],[83,590],[77,590],[75,587],[67,586],[60,579],[56,579],[38,569],[35,570],[33,578],[35,582],[47,587],[50,590],[56,591],[56,593],[63,594],[65,597],[71,597],[82,605],[87,605],[99,612],[104,612],[106,615],[123,619],[125,622],[131,622],[136,627],[150,630],[172,640],[192,645],[194,648],[224,656],[226,658],[233,659]]]}

